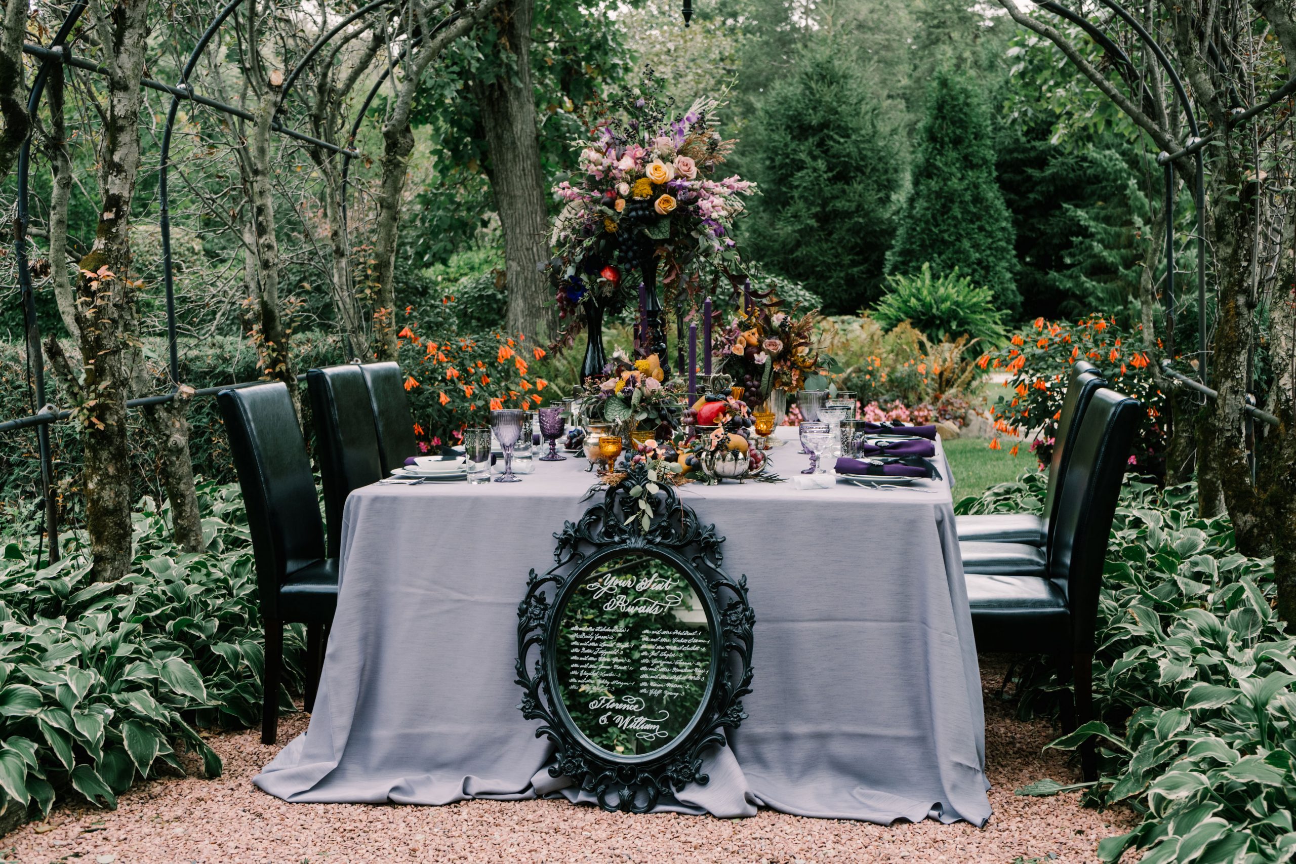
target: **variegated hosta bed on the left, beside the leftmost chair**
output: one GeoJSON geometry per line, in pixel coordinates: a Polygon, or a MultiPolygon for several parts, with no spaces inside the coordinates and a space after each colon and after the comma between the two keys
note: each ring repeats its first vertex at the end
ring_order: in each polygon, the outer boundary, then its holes
{"type": "MultiPolygon", "coordinates": [[[[166,510],[135,513],[136,556],[117,582],[88,582],[84,549],[32,570],[9,543],[0,560],[0,801],[41,815],[73,791],[114,807],[136,779],[184,773],[176,747],[220,758],[196,725],[260,716],[264,646],[237,488],[201,487],[202,554],[170,540],[166,510]]],[[[285,639],[286,680],[301,684],[301,627],[285,639]]],[[[281,703],[290,710],[290,702],[281,703]]]]}

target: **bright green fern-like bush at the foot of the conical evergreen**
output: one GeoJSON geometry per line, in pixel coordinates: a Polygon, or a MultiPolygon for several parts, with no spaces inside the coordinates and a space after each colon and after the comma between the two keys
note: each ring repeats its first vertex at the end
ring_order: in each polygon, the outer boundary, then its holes
{"type": "Polygon", "coordinates": [[[912,276],[888,276],[886,285],[886,294],[872,312],[886,330],[908,321],[942,339],[966,335],[988,345],[1004,339],[1003,313],[994,308],[994,294],[959,276],[958,267],[933,279],[931,264],[923,264],[912,276]]]}

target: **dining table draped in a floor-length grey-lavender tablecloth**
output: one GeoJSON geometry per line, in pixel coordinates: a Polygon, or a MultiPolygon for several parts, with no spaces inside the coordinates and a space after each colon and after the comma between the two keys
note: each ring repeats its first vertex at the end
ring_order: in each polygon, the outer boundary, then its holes
{"type": "MultiPolygon", "coordinates": [[[[981,826],[981,679],[941,442],[938,477],[862,487],[798,481],[794,435],[779,427],[767,451],[784,482],[678,487],[746,578],[754,677],[709,781],[656,810],[981,826]]],[[[587,497],[597,479],[568,453],[517,483],[354,491],[314,711],[257,786],[289,802],[591,803],[551,776],[515,662],[527,574],[552,566],[555,532],[601,499],[587,497]]]]}

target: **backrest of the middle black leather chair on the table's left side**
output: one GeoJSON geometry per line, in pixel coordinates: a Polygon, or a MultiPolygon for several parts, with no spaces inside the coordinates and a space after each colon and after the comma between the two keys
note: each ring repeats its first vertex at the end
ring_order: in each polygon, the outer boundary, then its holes
{"type": "Polygon", "coordinates": [[[316,455],[324,484],[328,557],[342,545],[342,508],[353,490],[382,479],[378,435],[369,408],[369,390],[360,367],[325,367],[306,372],[315,420],[316,455]]]}

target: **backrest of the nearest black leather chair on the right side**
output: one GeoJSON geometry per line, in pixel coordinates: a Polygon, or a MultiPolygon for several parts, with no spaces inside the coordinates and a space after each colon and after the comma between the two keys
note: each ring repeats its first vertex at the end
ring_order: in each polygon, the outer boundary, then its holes
{"type": "Polygon", "coordinates": [[[1048,578],[1067,592],[1077,652],[1094,649],[1107,541],[1142,411],[1138,399],[1102,387],[1090,399],[1072,442],[1048,578]]]}

